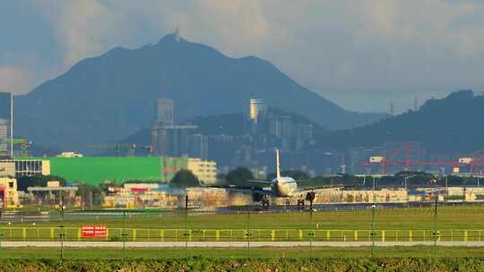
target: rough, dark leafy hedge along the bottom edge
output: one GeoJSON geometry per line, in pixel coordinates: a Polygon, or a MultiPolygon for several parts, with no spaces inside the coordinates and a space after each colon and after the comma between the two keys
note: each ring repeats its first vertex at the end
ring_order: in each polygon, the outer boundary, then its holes
{"type": "Polygon", "coordinates": [[[51,260],[0,259],[0,272],[10,271],[164,271],[164,272],[286,272],[286,271],[398,271],[398,272],[478,272],[484,270],[483,259],[445,258],[360,258],[360,259],[107,259],[51,260]]]}

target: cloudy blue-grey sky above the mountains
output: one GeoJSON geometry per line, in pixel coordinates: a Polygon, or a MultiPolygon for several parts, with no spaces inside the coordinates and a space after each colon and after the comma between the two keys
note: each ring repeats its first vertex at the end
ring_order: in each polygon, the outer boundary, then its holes
{"type": "Polygon", "coordinates": [[[346,109],[484,91],[484,0],[4,0],[0,89],[27,93],[86,57],[179,27],[223,54],[256,55],[346,109]]]}

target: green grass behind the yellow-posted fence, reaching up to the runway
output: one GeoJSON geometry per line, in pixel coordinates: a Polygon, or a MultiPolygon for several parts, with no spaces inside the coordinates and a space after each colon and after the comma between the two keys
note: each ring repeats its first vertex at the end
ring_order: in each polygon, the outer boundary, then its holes
{"type": "MultiPolygon", "coordinates": [[[[89,224],[106,224],[120,228],[189,228],[196,229],[245,229],[250,228],[314,228],[319,229],[369,229],[372,226],[372,211],[341,210],[314,212],[312,221],[309,212],[246,212],[222,215],[178,215],[164,213],[137,213],[128,211],[125,220],[122,213],[117,216],[82,216],[67,214],[65,226],[79,227],[89,224]],[[312,222],[312,224],[311,224],[312,222]],[[248,224],[248,225],[247,225],[248,224]]],[[[15,226],[31,226],[30,223],[14,223],[15,226]]],[[[59,226],[60,216],[49,222],[37,222],[37,226],[59,226]]],[[[380,229],[431,229],[434,227],[433,208],[376,208],[376,225],[380,229]]],[[[8,222],[0,223],[8,226],[8,222]]],[[[466,205],[438,207],[436,226],[440,229],[484,229],[484,206],[466,205]]]]}

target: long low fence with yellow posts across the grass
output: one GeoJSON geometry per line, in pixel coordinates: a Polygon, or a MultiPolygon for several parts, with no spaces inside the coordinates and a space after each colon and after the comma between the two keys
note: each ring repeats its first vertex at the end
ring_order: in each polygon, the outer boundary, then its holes
{"type": "MultiPolygon", "coordinates": [[[[310,229],[149,229],[108,228],[105,238],[83,238],[80,227],[2,227],[4,241],[126,241],[130,242],[254,242],[304,241],[315,242],[370,242],[372,230],[310,230],[310,229]],[[123,235],[125,234],[125,235],[123,235]],[[186,238],[187,237],[187,238],[186,238]]],[[[396,229],[376,230],[377,242],[481,242],[480,229],[396,229]]]]}

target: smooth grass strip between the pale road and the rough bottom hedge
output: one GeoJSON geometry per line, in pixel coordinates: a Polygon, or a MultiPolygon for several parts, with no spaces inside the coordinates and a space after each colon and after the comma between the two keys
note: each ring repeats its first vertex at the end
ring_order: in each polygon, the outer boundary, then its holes
{"type": "MultiPolygon", "coordinates": [[[[184,259],[203,257],[208,259],[303,259],[303,258],[367,258],[371,257],[371,247],[332,248],[309,247],[292,248],[65,248],[65,259],[184,259]]],[[[59,259],[60,248],[2,248],[0,258],[7,259],[59,259]]],[[[484,247],[377,247],[378,258],[484,258],[484,247]]]]}

